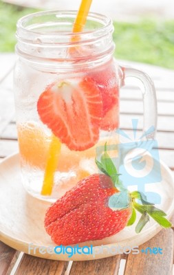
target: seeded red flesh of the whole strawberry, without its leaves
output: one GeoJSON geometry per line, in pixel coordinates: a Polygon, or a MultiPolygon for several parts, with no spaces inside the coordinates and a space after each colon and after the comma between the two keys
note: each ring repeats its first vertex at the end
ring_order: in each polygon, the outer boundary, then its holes
{"type": "Polygon", "coordinates": [[[99,240],[120,232],[129,221],[131,207],[111,210],[108,200],[118,192],[107,175],[95,174],[58,199],[45,216],[45,229],[58,245],[99,240]]]}

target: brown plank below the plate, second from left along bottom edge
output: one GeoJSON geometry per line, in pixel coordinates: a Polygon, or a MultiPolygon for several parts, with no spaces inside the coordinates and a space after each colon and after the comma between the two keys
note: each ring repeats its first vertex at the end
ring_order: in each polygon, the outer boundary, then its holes
{"type": "Polygon", "coordinates": [[[52,261],[24,254],[15,275],[64,275],[68,262],[52,261]]]}

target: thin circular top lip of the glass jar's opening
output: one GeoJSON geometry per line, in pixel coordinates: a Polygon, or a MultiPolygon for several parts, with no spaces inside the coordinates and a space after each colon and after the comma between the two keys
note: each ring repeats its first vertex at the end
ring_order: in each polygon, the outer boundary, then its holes
{"type": "MultiPolygon", "coordinates": [[[[47,36],[47,38],[51,37],[51,36],[76,36],[77,33],[73,33],[72,31],[69,32],[51,32],[51,33],[44,33],[43,32],[39,32],[39,31],[35,31],[32,30],[30,28],[26,27],[27,23],[30,23],[30,20],[34,19],[34,17],[43,17],[46,15],[55,15],[56,17],[58,17],[59,19],[64,18],[65,17],[69,17],[69,18],[76,18],[76,14],[77,14],[77,10],[49,10],[49,11],[41,11],[41,12],[34,12],[32,14],[28,14],[25,15],[24,17],[21,17],[21,19],[19,19],[17,21],[17,30],[22,30],[23,32],[28,32],[28,34],[34,34],[34,35],[44,35],[47,36]]],[[[110,17],[107,17],[103,14],[99,14],[97,12],[89,12],[87,19],[90,19],[91,21],[96,21],[98,23],[102,24],[102,27],[100,28],[96,28],[94,30],[83,30],[82,32],[78,32],[78,34],[80,34],[80,36],[83,36],[83,34],[92,34],[94,36],[97,36],[98,32],[101,31],[107,31],[107,29],[110,29],[113,27],[113,22],[111,20],[110,17]]]]}

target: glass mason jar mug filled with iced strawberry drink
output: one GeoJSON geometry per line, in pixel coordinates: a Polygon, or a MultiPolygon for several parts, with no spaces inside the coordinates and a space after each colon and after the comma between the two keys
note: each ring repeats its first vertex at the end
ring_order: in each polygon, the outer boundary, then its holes
{"type": "Polygon", "coordinates": [[[14,98],[22,180],[31,195],[51,201],[98,173],[96,149],[118,142],[125,77],[144,84],[144,131],[156,125],[153,83],[116,63],[111,20],[90,13],[77,34],[75,17],[72,11],[38,12],[17,24],[14,98]]]}

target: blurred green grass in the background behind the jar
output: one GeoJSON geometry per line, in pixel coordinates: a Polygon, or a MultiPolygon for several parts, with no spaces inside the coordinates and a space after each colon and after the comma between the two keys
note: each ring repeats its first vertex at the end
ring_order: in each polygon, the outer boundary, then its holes
{"type": "MultiPolygon", "coordinates": [[[[0,1],[0,52],[14,52],[17,20],[36,11],[0,1]]],[[[116,58],[174,69],[174,21],[115,21],[114,27],[116,58]]]]}

